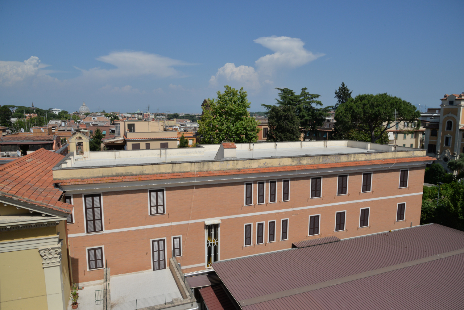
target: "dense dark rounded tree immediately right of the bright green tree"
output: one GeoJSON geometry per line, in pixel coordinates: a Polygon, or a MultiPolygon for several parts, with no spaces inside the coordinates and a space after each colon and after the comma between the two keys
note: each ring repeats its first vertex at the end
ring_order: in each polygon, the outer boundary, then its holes
{"type": "Polygon", "coordinates": [[[290,105],[271,106],[268,113],[267,141],[299,141],[300,120],[295,114],[294,107],[290,105]]]}

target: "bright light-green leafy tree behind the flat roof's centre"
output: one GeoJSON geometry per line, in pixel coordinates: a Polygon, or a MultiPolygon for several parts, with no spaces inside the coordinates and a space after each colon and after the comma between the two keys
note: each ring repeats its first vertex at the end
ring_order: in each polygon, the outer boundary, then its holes
{"type": "Polygon", "coordinates": [[[240,90],[224,86],[224,93],[217,92],[218,98],[208,99],[209,108],[203,109],[198,122],[201,142],[204,144],[258,141],[259,122],[250,117],[250,102],[243,87],[240,90]]]}

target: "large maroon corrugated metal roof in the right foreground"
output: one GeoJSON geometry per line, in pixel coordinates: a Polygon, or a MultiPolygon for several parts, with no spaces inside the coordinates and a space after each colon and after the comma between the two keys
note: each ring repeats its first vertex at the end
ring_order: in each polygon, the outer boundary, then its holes
{"type": "MultiPolygon", "coordinates": [[[[462,309],[464,253],[409,262],[464,249],[464,232],[438,224],[380,233],[213,263],[242,309],[462,309]],[[365,278],[360,273],[407,263],[365,278]],[[409,264],[409,265],[408,265],[409,264]],[[308,285],[353,276],[312,291],[308,285]],[[304,291],[250,304],[247,299],[304,291]],[[248,305],[245,305],[248,304],[248,305]]],[[[374,274],[374,273],[373,273],[374,274]]]]}

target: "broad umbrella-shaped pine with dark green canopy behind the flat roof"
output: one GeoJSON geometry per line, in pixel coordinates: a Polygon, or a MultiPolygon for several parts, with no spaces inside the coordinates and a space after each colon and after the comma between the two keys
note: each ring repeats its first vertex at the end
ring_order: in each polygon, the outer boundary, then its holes
{"type": "MultiPolygon", "coordinates": [[[[351,129],[364,131],[371,137],[370,142],[376,142],[383,133],[395,126],[396,120],[413,122],[420,116],[420,112],[411,103],[387,93],[363,94],[349,98],[335,111],[335,121],[339,132],[351,129]],[[376,129],[379,129],[376,133],[376,129]]],[[[420,122],[417,122],[420,126],[420,122]]]]}

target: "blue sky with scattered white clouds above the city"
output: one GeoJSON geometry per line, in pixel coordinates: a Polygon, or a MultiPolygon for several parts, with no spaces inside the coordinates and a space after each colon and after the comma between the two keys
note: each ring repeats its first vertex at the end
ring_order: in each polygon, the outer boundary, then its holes
{"type": "Polygon", "coordinates": [[[424,111],[464,91],[464,1],[0,0],[0,105],[201,113],[224,85],[251,111],[303,87],[424,111]]]}

